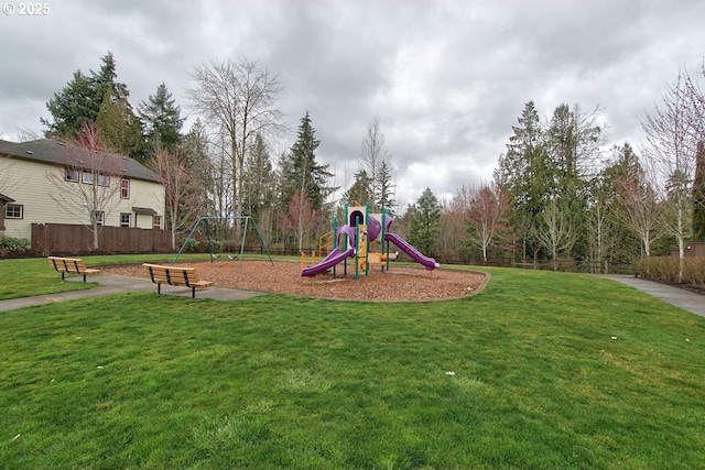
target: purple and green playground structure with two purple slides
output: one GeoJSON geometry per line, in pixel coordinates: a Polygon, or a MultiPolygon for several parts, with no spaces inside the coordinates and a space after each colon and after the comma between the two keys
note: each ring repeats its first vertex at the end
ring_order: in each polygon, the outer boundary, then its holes
{"type": "Polygon", "coordinates": [[[355,278],[359,277],[360,272],[368,275],[370,266],[379,266],[381,271],[389,270],[389,261],[392,258],[389,251],[390,242],[413,261],[422,264],[429,275],[441,266],[433,258],[424,255],[406,240],[389,231],[392,218],[383,208],[381,214],[370,214],[367,205],[347,206],[345,211],[347,223],[344,226],[337,227],[337,219],[333,219],[332,251],[317,264],[303,267],[302,276],[315,276],[332,269],[335,278],[336,267],[339,263],[343,263],[344,274],[347,274],[349,259],[355,259],[355,278]],[[381,245],[380,251],[371,251],[371,243],[378,238],[381,245]]]}

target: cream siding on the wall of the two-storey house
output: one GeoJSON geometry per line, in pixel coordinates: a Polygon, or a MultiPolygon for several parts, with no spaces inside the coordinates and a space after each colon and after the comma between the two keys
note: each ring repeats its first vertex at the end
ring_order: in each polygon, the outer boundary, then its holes
{"type": "MultiPolygon", "coordinates": [[[[64,168],[47,164],[10,159],[10,165],[6,165],[8,184],[3,185],[6,196],[14,199],[14,203],[24,206],[22,219],[6,219],[4,234],[8,237],[31,237],[32,223],[90,223],[87,211],[73,214],[62,207],[57,199],[62,196],[62,189],[50,181],[48,174],[58,175],[62,179],[64,168]]],[[[82,183],[64,182],[62,185],[78,185],[82,183]]],[[[115,187],[115,197],[109,208],[106,208],[106,226],[120,227],[120,214],[132,214],[132,227],[151,229],[152,218],[147,215],[135,216],[133,207],[153,209],[159,216],[164,216],[164,187],[158,183],[130,179],[130,198],[120,199],[120,178],[110,178],[110,187],[115,187]]],[[[78,212],[78,211],[76,211],[78,212]]]]}

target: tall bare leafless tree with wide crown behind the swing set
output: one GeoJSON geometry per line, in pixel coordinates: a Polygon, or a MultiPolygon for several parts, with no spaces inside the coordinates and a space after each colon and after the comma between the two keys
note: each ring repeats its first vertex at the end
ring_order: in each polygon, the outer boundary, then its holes
{"type": "MultiPolygon", "coordinates": [[[[194,67],[195,86],[186,90],[191,108],[203,114],[214,128],[223,129],[227,145],[223,150],[231,161],[232,201],[236,217],[242,216],[246,155],[256,135],[264,140],[283,131],[283,113],[276,108],[281,92],[279,78],[257,62],[240,58],[194,67]]],[[[240,234],[240,219],[236,238],[240,234]]]]}

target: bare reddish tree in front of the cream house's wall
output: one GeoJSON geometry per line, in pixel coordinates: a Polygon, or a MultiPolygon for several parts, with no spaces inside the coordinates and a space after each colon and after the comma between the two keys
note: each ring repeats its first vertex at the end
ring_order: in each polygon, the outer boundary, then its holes
{"type": "Polygon", "coordinates": [[[64,160],[59,171],[46,173],[61,194],[52,199],[67,212],[86,217],[98,250],[102,223],[120,204],[121,157],[105,152],[95,122],[84,122],[76,140],[66,145],[64,160]]]}

